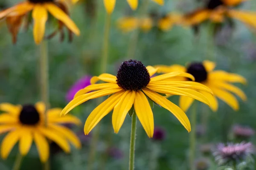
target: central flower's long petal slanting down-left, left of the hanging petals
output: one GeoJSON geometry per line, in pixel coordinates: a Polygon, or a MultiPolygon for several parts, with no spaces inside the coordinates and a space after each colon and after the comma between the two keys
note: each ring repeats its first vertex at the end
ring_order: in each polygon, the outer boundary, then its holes
{"type": "Polygon", "coordinates": [[[115,105],[119,102],[120,97],[124,94],[124,91],[119,91],[110,96],[99,106],[97,106],[92,113],[88,116],[84,125],[84,134],[88,135],[90,131],[95,127],[99,121],[113,110],[115,105]]]}

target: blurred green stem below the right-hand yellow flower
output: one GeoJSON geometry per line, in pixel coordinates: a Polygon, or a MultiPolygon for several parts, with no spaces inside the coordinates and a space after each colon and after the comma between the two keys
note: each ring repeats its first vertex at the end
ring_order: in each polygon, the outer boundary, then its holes
{"type": "Polygon", "coordinates": [[[190,170],[195,170],[195,144],[196,144],[196,116],[197,116],[197,102],[194,102],[191,112],[191,132],[189,141],[189,165],[190,170]]]}

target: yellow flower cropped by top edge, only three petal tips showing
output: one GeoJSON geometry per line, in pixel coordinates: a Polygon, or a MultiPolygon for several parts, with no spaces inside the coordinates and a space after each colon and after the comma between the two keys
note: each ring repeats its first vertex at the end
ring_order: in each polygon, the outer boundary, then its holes
{"type": "MultiPolygon", "coordinates": [[[[152,0],[159,5],[163,5],[164,0],[152,0]]],[[[116,6],[116,0],[103,0],[106,11],[111,14],[116,6]]],[[[138,0],[127,0],[129,6],[135,10],[138,7],[138,0]]]]}

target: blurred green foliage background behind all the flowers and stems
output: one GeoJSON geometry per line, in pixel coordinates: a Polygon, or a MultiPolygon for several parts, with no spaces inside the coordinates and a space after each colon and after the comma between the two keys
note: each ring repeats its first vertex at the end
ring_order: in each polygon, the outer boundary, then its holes
{"type": "MultiPolygon", "coordinates": [[[[0,0],[0,6],[9,7],[17,2],[19,1],[0,0]]],[[[200,3],[196,0],[166,0],[164,6],[158,6],[150,1],[148,13],[151,11],[157,11],[160,14],[170,11],[183,13],[195,9],[200,3]]],[[[51,107],[64,107],[67,104],[65,95],[76,80],[84,75],[99,74],[106,13],[102,0],[93,0],[93,4],[94,6],[89,8],[87,3],[81,0],[72,7],[71,18],[81,31],[81,35],[74,37],[72,43],[67,42],[67,37],[64,42],[59,42],[58,35],[47,41],[51,107]],[[93,13],[89,14],[88,8],[92,9],[93,13]]],[[[134,32],[123,34],[116,27],[116,20],[127,14],[137,15],[141,7],[140,4],[137,11],[133,12],[125,0],[116,2],[116,8],[111,17],[108,73],[116,74],[119,65],[125,60],[131,36],[134,34],[134,32]]],[[[256,1],[248,1],[240,8],[255,10],[256,1]]],[[[54,21],[49,21],[47,34],[51,33],[56,26],[54,21]]],[[[207,28],[207,23],[202,24],[198,35],[194,35],[191,28],[180,26],[175,26],[167,32],[160,31],[158,28],[152,28],[148,33],[140,32],[136,54],[129,56],[131,59],[141,60],[145,65],[185,65],[188,62],[209,59],[209,56],[213,55],[216,58],[216,69],[241,74],[247,79],[247,86],[238,85],[248,97],[247,102],[239,101],[238,112],[233,111],[221,101],[217,113],[212,113],[207,106],[199,105],[198,122],[200,123],[203,114],[209,114],[209,122],[206,133],[198,138],[196,147],[198,159],[204,157],[200,152],[202,144],[236,142],[230,133],[234,124],[256,129],[256,30],[249,29],[240,22],[235,22],[234,28],[224,26],[224,29],[215,35],[214,45],[209,47],[213,40],[209,37],[207,28]]],[[[8,33],[6,24],[4,21],[0,21],[0,102],[27,104],[40,101],[38,65],[39,48],[35,45],[32,37],[32,25],[28,31],[21,29],[17,44],[12,45],[11,35],[8,33]]],[[[171,101],[178,104],[177,99],[177,96],[170,98],[171,101]]],[[[84,124],[95,106],[96,100],[91,100],[76,108],[73,113],[79,116],[84,124]]],[[[175,116],[165,109],[154,107],[153,112],[155,126],[165,129],[166,139],[158,142],[149,139],[138,123],[135,169],[149,170],[152,163],[157,164],[157,170],[189,169],[187,166],[189,133],[175,116]],[[151,161],[154,156],[157,158],[156,162],[151,161]]],[[[95,169],[127,169],[130,116],[125,119],[118,134],[113,133],[111,114],[101,121],[100,126],[101,133],[97,143],[95,169]]],[[[83,125],[72,128],[83,137],[83,125]]],[[[94,130],[90,136],[93,132],[94,130]]],[[[0,139],[3,136],[1,135],[0,139]]],[[[81,150],[73,148],[69,155],[64,154],[61,150],[52,153],[50,157],[52,169],[87,169],[90,136],[86,139],[83,137],[81,150]]],[[[255,144],[255,137],[250,141],[255,144]]],[[[6,161],[0,159],[0,170],[11,169],[16,153],[17,146],[6,161]]],[[[214,163],[213,157],[208,156],[207,159],[211,164],[210,170],[216,170],[217,165],[214,163]]],[[[38,167],[41,167],[41,163],[34,146],[25,157],[22,169],[34,170],[38,167]]]]}

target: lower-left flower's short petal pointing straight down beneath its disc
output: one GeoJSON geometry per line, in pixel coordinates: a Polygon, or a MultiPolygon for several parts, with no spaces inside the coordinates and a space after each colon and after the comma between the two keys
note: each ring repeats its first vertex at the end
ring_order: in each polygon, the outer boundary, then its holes
{"type": "Polygon", "coordinates": [[[29,152],[32,142],[33,142],[33,138],[32,138],[31,131],[29,131],[26,128],[23,128],[20,133],[20,143],[19,143],[20,154],[22,156],[25,156],[29,152]]]}

